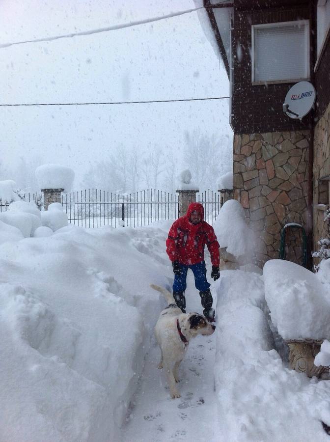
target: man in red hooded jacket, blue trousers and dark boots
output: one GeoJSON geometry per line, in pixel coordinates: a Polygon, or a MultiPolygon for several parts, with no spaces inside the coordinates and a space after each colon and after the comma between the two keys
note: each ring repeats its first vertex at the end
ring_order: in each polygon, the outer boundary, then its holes
{"type": "Polygon", "coordinates": [[[173,298],[176,305],[185,313],[187,272],[188,269],[192,269],[195,287],[199,290],[201,304],[204,307],[203,313],[213,322],[215,311],[212,308],[211,284],[206,279],[205,244],[211,255],[211,277],[216,280],[220,277],[220,246],[213,227],[204,221],[204,207],[200,203],[192,203],[188,207],[187,214],[173,222],[166,240],[166,252],[174,272],[173,298]]]}

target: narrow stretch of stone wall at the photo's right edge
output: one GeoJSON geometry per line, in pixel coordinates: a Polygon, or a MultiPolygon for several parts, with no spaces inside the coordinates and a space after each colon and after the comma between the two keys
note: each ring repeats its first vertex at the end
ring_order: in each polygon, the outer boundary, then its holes
{"type": "Polygon", "coordinates": [[[324,210],[318,208],[317,205],[319,203],[329,205],[330,198],[329,182],[319,181],[320,178],[330,175],[330,105],[328,105],[314,129],[313,175],[313,249],[318,250],[317,242],[326,235],[326,225],[324,223],[324,210]]]}

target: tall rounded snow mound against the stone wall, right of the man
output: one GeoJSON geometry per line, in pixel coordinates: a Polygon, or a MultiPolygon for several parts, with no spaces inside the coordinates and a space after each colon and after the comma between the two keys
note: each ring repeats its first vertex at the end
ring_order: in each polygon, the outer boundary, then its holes
{"type": "Polygon", "coordinates": [[[213,224],[220,248],[238,260],[248,261],[253,254],[255,235],[248,227],[244,209],[235,199],[226,201],[213,224]]]}

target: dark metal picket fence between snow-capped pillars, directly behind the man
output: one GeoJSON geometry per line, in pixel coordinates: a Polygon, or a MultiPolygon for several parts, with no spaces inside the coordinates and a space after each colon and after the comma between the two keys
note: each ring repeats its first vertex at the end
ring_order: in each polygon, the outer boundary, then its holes
{"type": "MultiPolygon", "coordinates": [[[[212,224],[220,211],[220,194],[209,190],[198,193],[196,200],[204,205],[205,220],[212,224]]],[[[71,224],[94,228],[137,227],[175,220],[179,214],[178,195],[155,189],[127,194],[86,189],[63,194],[62,205],[71,224]]]]}

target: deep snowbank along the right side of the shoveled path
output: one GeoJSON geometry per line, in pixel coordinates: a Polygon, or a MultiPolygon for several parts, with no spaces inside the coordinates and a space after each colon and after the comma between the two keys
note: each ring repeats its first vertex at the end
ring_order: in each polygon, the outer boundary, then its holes
{"type": "Polygon", "coordinates": [[[263,277],[221,272],[217,295],[215,382],[228,440],[328,441],[321,420],[330,425],[330,383],[289,370],[280,359],[263,277]]]}

